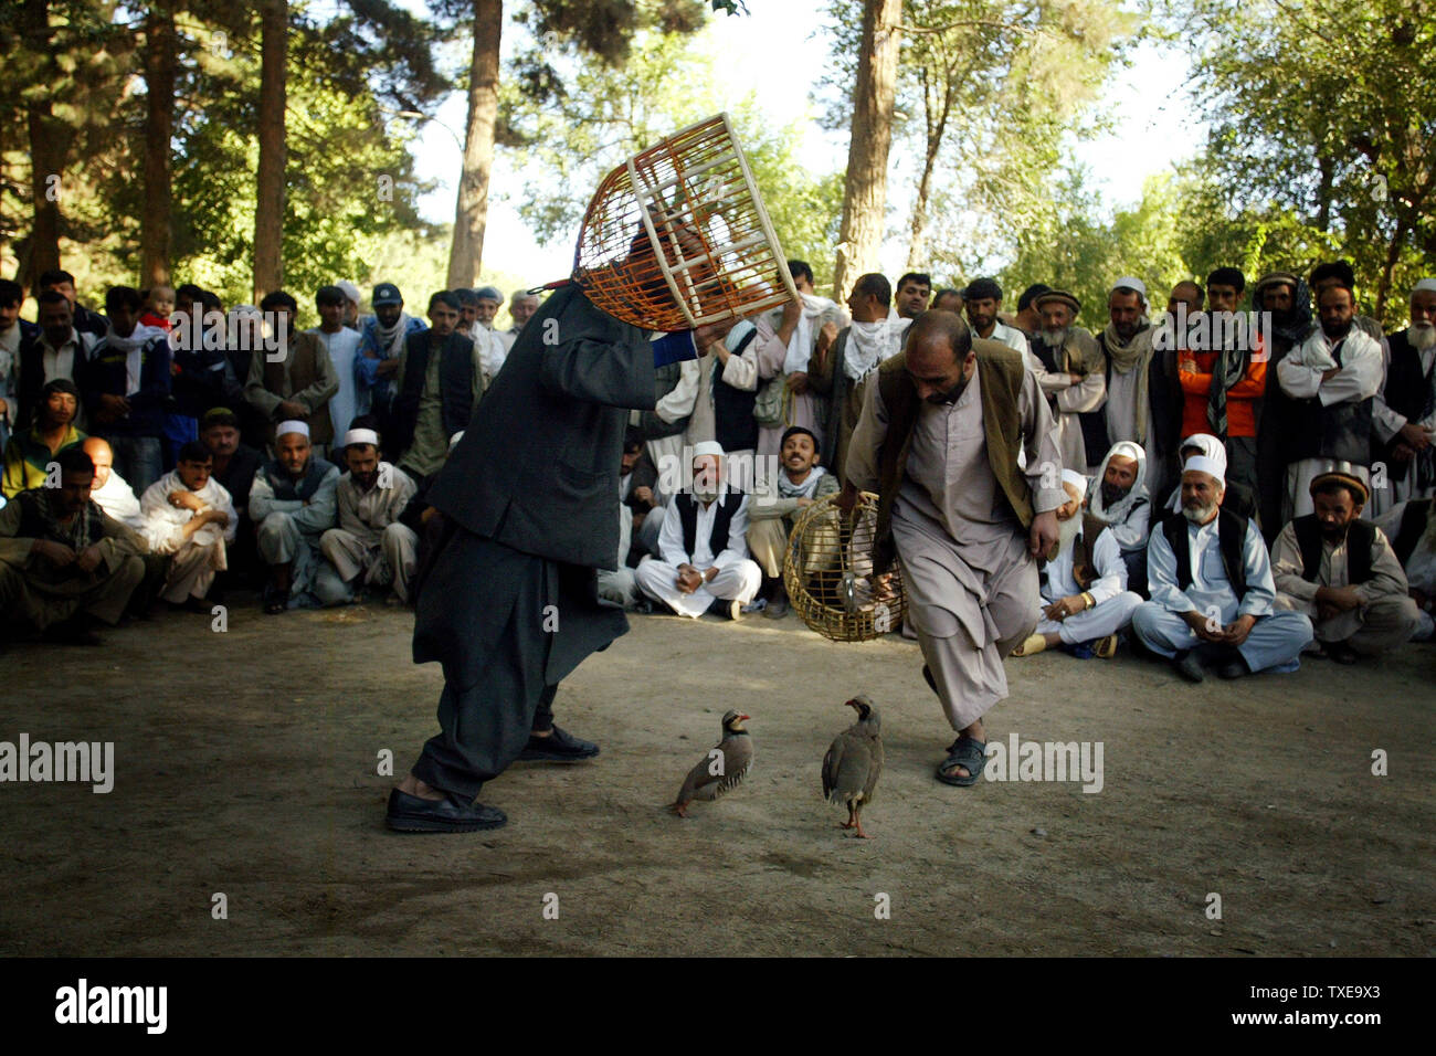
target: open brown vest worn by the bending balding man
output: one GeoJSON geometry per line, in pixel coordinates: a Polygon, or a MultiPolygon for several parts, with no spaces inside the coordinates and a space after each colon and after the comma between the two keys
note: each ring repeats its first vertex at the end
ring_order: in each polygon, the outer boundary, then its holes
{"type": "MultiPolygon", "coordinates": [[[[1024,529],[1032,524],[1032,494],[1027,477],[1017,468],[1017,453],[1022,445],[1022,422],[1018,395],[1027,366],[1022,356],[999,341],[975,338],[978,353],[978,389],[982,397],[982,431],[987,434],[988,463],[992,476],[1024,529]]],[[[902,353],[890,356],[877,368],[877,394],[887,409],[887,435],[877,450],[877,537],[873,543],[875,573],[892,568],[896,547],[892,533],[893,500],[902,487],[912,448],[912,431],[918,424],[922,399],[918,386],[908,376],[902,353]]]]}

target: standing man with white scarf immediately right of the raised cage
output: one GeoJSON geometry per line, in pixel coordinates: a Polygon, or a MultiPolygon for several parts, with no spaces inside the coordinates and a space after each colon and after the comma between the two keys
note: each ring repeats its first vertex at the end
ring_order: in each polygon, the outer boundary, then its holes
{"type": "MultiPolygon", "coordinates": [[[[808,385],[808,361],[820,349],[826,352],[847,326],[847,313],[813,287],[813,269],[803,260],[790,260],[788,273],[798,290],[801,305],[788,302],[768,312],[775,341],[758,348],[758,374],[763,385],[777,385],[781,392],[781,417],[775,424],[758,428],[760,458],[778,455],[783,434],[791,427],[804,428],[823,443],[823,422],[819,398],[808,385]],[[768,381],[771,378],[771,381],[768,381]]],[[[760,394],[760,408],[763,397],[760,394]]]]}

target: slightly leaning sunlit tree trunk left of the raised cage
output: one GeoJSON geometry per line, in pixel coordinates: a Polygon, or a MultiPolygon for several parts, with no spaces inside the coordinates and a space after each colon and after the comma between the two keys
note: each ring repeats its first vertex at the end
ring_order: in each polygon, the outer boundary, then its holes
{"type": "Polygon", "coordinates": [[[468,68],[464,172],[458,181],[454,243],[449,247],[451,290],[472,286],[484,260],[488,175],[494,168],[494,126],[498,122],[498,37],[503,27],[503,0],[474,0],[474,56],[468,68]]]}

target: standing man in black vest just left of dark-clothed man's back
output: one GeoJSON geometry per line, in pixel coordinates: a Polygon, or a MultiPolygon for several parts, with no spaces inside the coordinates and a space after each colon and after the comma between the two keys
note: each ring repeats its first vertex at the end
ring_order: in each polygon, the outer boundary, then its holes
{"type": "Polygon", "coordinates": [[[438,473],[448,457],[448,438],[468,428],[484,395],[480,348],[457,332],[458,299],[429,297],[431,329],[409,335],[399,355],[393,399],[393,450],[399,467],[416,484],[438,473]]]}

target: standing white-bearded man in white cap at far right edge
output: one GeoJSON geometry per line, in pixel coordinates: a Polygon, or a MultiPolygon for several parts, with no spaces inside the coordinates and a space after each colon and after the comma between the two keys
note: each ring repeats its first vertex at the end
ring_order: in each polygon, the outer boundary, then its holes
{"type": "Polygon", "coordinates": [[[1387,336],[1391,359],[1373,417],[1394,501],[1436,494],[1436,279],[1412,289],[1412,325],[1387,336]]]}

